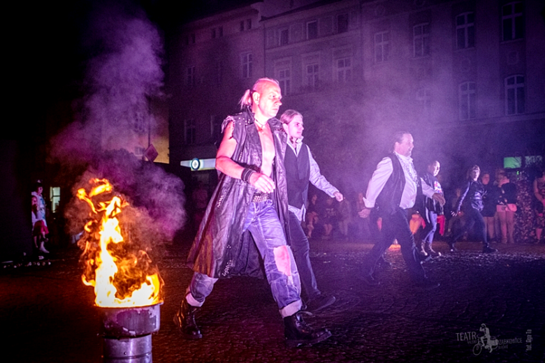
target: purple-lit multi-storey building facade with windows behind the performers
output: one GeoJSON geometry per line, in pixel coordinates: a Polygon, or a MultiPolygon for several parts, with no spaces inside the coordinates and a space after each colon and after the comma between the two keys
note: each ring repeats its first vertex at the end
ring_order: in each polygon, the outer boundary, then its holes
{"type": "Polygon", "coordinates": [[[267,6],[182,27],[169,61],[172,163],[213,158],[221,120],[263,76],[279,81],[281,112],[303,113],[306,141],[339,178],[376,165],[398,129],[414,134],[415,151],[451,164],[544,153],[541,1],[267,6]]]}

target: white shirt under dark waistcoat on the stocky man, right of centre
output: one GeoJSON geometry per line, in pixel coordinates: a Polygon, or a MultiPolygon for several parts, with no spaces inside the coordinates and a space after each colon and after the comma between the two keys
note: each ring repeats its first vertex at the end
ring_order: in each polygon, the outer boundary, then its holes
{"type": "MultiPolygon", "coordinates": [[[[416,179],[416,170],[414,169],[414,165],[412,164],[412,158],[410,158],[409,156],[403,156],[401,154],[398,154],[395,151],[393,151],[393,154],[395,154],[395,156],[398,156],[398,159],[401,163],[401,168],[403,169],[403,173],[405,174],[405,188],[403,188],[403,193],[401,195],[401,201],[399,206],[402,209],[411,208],[414,206],[414,202],[416,201],[416,181],[418,180],[416,179]]],[[[377,170],[373,172],[373,176],[369,181],[367,193],[365,193],[365,198],[363,198],[363,201],[365,202],[365,207],[375,207],[375,201],[377,200],[380,192],[382,192],[384,185],[386,185],[388,178],[390,177],[390,175],[392,175],[392,172],[392,159],[387,156],[386,158],[383,158],[382,161],[380,161],[379,165],[377,165],[377,170]]],[[[426,184],[422,179],[420,181],[420,184],[422,186],[422,193],[428,198],[432,198],[433,193],[435,193],[433,191],[433,188],[426,184]]]]}

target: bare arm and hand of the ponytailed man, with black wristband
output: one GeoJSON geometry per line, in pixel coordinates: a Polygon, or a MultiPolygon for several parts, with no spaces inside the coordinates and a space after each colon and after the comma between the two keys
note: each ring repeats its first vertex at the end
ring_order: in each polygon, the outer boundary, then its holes
{"type": "MultiPolygon", "coordinates": [[[[225,175],[235,179],[242,179],[244,167],[235,163],[231,157],[235,152],[237,142],[233,138],[233,129],[235,128],[233,121],[229,122],[224,130],[224,138],[216,154],[216,169],[223,172],[225,175]]],[[[275,183],[267,175],[261,172],[254,172],[249,177],[249,184],[257,188],[263,193],[271,193],[275,190],[275,183]]]]}

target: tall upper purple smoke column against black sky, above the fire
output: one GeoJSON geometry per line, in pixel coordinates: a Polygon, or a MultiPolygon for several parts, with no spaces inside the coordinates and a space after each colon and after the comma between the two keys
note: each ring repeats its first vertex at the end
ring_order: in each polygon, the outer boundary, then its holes
{"type": "Polygon", "coordinates": [[[85,51],[85,94],[78,120],[50,142],[52,161],[81,163],[154,131],[151,98],[162,96],[163,45],[142,10],[99,3],[90,13],[85,51]]]}

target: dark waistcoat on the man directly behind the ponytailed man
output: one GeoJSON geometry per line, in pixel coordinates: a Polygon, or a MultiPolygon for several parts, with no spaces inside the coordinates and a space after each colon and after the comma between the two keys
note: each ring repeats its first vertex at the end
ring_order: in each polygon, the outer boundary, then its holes
{"type": "Polygon", "coordinates": [[[301,208],[307,202],[310,161],[307,145],[301,145],[298,156],[291,147],[286,147],[284,156],[286,182],[288,184],[288,204],[301,208]]]}

